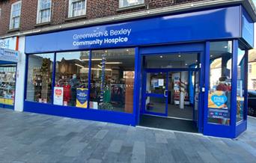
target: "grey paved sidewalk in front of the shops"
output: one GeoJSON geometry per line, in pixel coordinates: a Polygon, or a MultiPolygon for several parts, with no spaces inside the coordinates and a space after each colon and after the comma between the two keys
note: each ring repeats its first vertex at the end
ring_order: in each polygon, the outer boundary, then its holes
{"type": "Polygon", "coordinates": [[[0,108],[0,162],[256,162],[256,119],[231,140],[0,108]]]}

